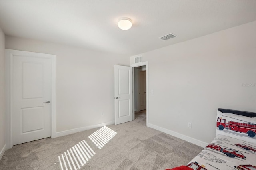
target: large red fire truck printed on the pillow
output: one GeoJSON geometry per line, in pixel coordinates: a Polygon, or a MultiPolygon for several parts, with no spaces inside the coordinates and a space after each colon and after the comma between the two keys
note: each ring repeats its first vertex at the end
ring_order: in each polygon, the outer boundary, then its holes
{"type": "Polygon", "coordinates": [[[216,127],[218,127],[220,130],[226,128],[240,133],[247,133],[251,138],[253,138],[256,134],[256,124],[251,123],[241,123],[234,121],[228,121],[228,123],[226,123],[226,119],[218,118],[216,127]]]}

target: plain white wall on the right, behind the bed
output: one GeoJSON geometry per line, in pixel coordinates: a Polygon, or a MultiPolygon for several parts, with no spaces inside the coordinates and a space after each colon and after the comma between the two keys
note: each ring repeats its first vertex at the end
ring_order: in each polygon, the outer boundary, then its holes
{"type": "Polygon", "coordinates": [[[154,90],[148,94],[149,124],[211,142],[217,108],[256,112],[255,30],[250,22],[138,54],[148,61],[154,90]]]}

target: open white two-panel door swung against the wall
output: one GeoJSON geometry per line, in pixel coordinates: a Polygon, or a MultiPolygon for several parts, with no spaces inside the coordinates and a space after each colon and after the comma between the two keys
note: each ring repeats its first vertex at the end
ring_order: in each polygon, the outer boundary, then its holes
{"type": "Polygon", "coordinates": [[[132,121],[132,67],[115,65],[115,125],[132,121]]]}

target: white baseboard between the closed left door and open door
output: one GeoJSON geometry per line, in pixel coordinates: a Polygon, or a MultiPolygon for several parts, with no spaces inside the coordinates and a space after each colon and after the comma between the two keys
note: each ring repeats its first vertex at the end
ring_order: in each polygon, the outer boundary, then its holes
{"type": "Polygon", "coordinates": [[[74,128],[74,129],[71,129],[71,130],[65,130],[65,131],[62,131],[62,132],[56,132],[56,137],[65,136],[65,135],[73,134],[73,133],[77,133],[77,132],[82,132],[84,130],[90,130],[90,129],[93,129],[93,128],[103,127],[103,126],[106,126],[106,125],[112,125],[114,123],[115,123],[115,121],[109,121],[109,122],[100,123],[100,124],[97,124],[97,125],[91,125],[91,126],[87,126],[87,127],[80,127],[80,128],[74,128]]]}

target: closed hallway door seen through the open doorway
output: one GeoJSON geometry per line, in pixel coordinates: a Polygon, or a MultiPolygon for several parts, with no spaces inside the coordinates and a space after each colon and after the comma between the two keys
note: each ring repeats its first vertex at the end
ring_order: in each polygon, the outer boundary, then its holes
{"type": "Polygon", "coordinates": [[[140,110],[145,110],[146,109],[146,97],[147,97],[147,87],[146,87],[146,71],[140,71],[139,74],[139,82],[140,82],[140,110]]]}

